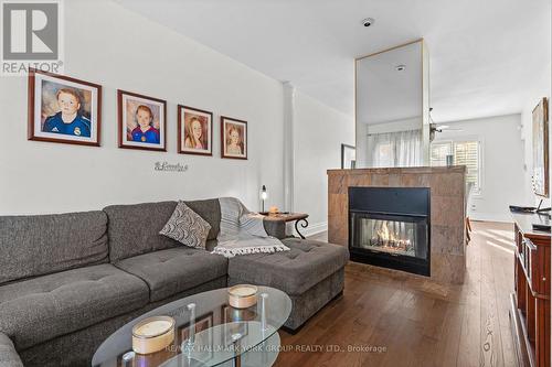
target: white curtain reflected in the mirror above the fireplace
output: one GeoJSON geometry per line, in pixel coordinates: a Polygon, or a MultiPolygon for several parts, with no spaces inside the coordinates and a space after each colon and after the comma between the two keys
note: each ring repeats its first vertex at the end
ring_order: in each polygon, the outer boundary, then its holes
{"type": "Polygon", "coordinates": [[[372,168],[422,165],[422,130],[368,136],[372,168]]]}

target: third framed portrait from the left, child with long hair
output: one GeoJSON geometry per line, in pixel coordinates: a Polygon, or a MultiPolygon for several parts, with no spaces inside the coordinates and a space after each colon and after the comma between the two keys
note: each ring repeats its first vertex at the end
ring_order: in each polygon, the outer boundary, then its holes
{"type": "Polygon", "coordinates": [[[213,114],[178,106],[178,152],[213,155],[213,114]]]}

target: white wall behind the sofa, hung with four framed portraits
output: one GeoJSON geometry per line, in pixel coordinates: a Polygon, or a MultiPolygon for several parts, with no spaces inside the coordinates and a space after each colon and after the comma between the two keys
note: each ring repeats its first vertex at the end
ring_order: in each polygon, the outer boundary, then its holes
{"type": "MultiPolygon", "coordinates": [[[[3,77],[0,214],[224,195],[258,209],[262,184],[270,190],[270,204],[282,205],[279,82],[114,2],[72,0],[64,6],[64,74],[104,86],[102,147],[28,141],[26,78],[3,77]],[[117,88],[168,101],[168,153],[117,148],[117,88]],[[212,158],[176,153],[177,104],[214,112],[212,158]],[[248,121],[247,161],[220,158],[220,115],[248,121]],[[156,173],[157,161],[188,163],[190,170],[156,173]]],[[[325,182],[322,175],[317,183],[325,182]]]]}

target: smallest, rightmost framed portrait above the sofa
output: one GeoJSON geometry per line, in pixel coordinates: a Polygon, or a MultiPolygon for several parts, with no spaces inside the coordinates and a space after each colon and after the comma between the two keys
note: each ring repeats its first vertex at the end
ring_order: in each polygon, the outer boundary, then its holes
{"type": "Polygon", "coordinates": [[[247,121],[221,116],[221,156],[247,159],[247,121]]]}

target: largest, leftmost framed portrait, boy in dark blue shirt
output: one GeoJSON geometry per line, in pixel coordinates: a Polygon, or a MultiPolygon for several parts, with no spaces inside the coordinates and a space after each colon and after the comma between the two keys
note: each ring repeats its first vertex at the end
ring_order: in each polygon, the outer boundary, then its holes
{"type": "Polygon", "coordinates": [[[102,86],[29,69],[29,140],[99,147],[102,86]]]}

